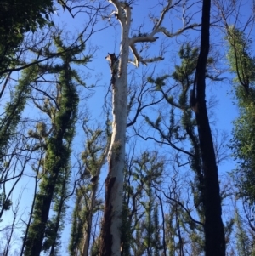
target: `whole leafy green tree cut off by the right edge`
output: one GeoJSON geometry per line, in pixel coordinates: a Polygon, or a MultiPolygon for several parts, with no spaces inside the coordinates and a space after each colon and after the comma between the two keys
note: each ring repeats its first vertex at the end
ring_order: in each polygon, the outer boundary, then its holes
{"type": "MultiPolygon", "coordinates": [[[[225,20],[225,23],[227,24],[227,20],[225,20]]],[[[251,29],[253,29],[252,26],[251,29]]],[[[255,203],[255,122],[253,118],[255,111],[255,61],[254,52],[252,51],[253,42],[252,39],[237,26],[225,26],[225,32],[225,39],[229,46],[227,57],[230,70],[235,75],[233,79],[233,91],[239,108],[239,117],[235,119],[233,138],[230,143],[233,156],[238,160],[232,174],[236,185],[236,196],[237,198],[241,198],[242,201],[242,211],[246,219],[246,230],[249,230],[249,232],[244,234],[241,216],[237,215],[235,224],[238,230],[238,249],[241,250],[241,254],[245,253],[245,251],[249,251],[250,255],[253,255],[254,250],[247,246],[245,242],[246,239],[249,239],[250,242],[253,243],[255,232],[255,225],[253,223],[253,206],[255,203]]],[[[248,33],[250,33],[250,31],[248,33]]]]}

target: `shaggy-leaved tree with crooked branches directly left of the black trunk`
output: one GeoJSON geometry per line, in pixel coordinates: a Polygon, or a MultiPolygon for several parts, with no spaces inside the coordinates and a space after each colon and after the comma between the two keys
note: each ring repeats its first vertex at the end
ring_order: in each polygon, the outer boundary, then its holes
{"type": "MultiPolygon", "coordinates": [[[[180,229],[184,230],[182,232],[185,234],[186,242],[190,239],[188,243],[192,244],[193,248],[196,247],[196,251],[202,252],[205,241],[206,184],[198,133],[195,131],[195,115],[190,107],[188,96],[190,88],[193,88],[195,82],[195,68],[199,48],[192,46],[191,43],[184,43],[178,54],[181,64],[175,65],[172,74],[148,78],[149,82],[155,84],[156,91],[163,95],[165,101],[159,105],[159,114],[155,121],[149,115],[143,114],[145,122],[158,135],[150,137],[147,134],[139,133],[139,136],[143,139],[154,139],[164,147],[172,147],[176,151],[175,161],[178,164],[178,169],[180,169],[179,172],[183,173],[185,168],[194,172],[189,175],[188,181],[194,203],[190,205],[189,202],[186,210],[184,210],[182,203],[173,205],[173,211],[176,211],[176,214],[169,213],[169,216],[173,215],[179,219],[180,229]],[[163,107],[162,104],[164,104],[163,107]],[[192,213],[196,215],[195,219],[197,220],[190,218],[191,208],[193,208],[192,213]],[[187,213],[189,214],[187,215],[187,213]],[[184,223],[189,223],[189,225],[183,225],[184,223]]],[[[212,79],[212,81],[221,80],[218,74],[214,75],[210,71],[210,66],[213,63],[212,57],[207,59],[206,77],[212,79]]],[[[171,202],[171,196],[166,193],[165,197],[171,202]]],[[[189,196],[187,197],[189,198],[189,196]]],[[[182,202],[183,200],[185,200],[183,196],[178,200],[173,198],[172,203],[182,202]]],[[[183,242],[183,244],[186,242],[183,242]]]]}

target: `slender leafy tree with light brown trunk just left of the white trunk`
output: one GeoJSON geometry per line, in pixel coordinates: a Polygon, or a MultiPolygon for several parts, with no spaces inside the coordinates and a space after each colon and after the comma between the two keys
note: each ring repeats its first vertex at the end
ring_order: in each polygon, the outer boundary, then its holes
{"type": "MultiPolygon", "coordinates": [[[[109,124],[103,128],[89,128],[87,121],[82,123],[86,137],[85,149],[81,153],[82,164],[77,178],[76,202],[72,213],[71,239],[69,252],[71,255],[89,255],[91,236],[94,233],[94,215],[102,209],[99,199],[99,178],[105,165],[110,145],[111,134],[109,124]]],[[[95,249],[95,248],[94,248],[95,249]]],[[[92,251],[92,250],[90,250],[92,251]]]]}

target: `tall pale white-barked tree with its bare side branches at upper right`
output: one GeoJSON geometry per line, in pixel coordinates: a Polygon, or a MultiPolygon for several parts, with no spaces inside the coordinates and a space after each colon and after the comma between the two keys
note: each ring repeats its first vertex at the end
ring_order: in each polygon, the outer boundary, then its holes
{"type": "MultiPolygon", "coordinates": [[[[122,2],[118,0],[109,0],[115,10],[111,12],[119,21],[121,31],[120,53],[108,54],[106,60],[109,60],[111,66],[111,86],[112,86],[112,136],[111,145],[107,157],[109,172],[105,181],[105,213],[101,230],[100,255],[117,256],[121,254],[121,226],[122,226],[122,191],[123,191],[123,173],[125,163],[125,144],[127,128],[127,65],[129,62],[129,48],[133,53],[133,65],[139,67],[142,63],[163,60],[162,56],[143,59],[136,48],[137,43],[152,43],[158,37],[157,33],[163,33],[167,37],[175,37],[183,31],[199,26],[184,22],[184,26],[176,32],[169,32],[162,26],[165,14],[170,9],[175,8],[172,0],[166,1],[166,6],[161,10],[159,19],[155,20],[155,25],[150,33],[140,33],[136,37],[129,37],[132,22],[133,1],[122,2]]],[[[184,4],[185,6],[185,4],[184,4]]],[[[110,18],[111,18],[110,16],[110,18]]],[[[186,19],[184,19],[186,20],[186,19]]],[[[190,20],[190,19],[188,19],[190,20]]]]}

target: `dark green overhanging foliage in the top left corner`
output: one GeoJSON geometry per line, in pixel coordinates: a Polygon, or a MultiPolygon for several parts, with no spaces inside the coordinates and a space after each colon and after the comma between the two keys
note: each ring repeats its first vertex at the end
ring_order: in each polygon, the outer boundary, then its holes
{"type": "Polygon", "coordinates": [[[42,29],[54,12],[53,0],[2,0],[0,3],[0,71],[16,62],[15,52],[25,33],[42,29]]]}

